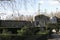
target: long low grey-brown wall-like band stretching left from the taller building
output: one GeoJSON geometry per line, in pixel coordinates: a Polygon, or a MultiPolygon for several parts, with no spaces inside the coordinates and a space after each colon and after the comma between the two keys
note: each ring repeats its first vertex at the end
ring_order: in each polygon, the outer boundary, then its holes
{"type": "Polygon", "coordinates": [[[0,20],[0,27],[23,27],[32,26],[30,21],[0,20]]]}

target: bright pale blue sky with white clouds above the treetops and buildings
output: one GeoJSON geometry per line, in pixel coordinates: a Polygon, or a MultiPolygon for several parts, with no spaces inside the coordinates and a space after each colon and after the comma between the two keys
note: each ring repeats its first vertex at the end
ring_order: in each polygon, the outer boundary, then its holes
{"type": "Polygon", "coordinates": [[[13,1],[0,1],[0,13],[6,15],[18,12],[24,15],[35,15],[38,12],[38,4],[40,3],[40,11],[47,13],[60,11],[60,3],[56,0],[13,0],[13,1]]]}

